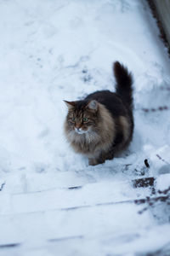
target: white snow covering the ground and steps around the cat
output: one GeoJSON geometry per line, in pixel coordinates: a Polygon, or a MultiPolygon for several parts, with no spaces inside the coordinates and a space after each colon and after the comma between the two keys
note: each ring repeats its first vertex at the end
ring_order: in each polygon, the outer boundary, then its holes
{"type": "Polygon", "coordinates": [[[170,61],[147,3],[1,0],[0,20],[0,255],[169,255],[170,61]],[[88,166],[63,100],[114,90],[116,60],[134,76],[133,143],[88,166]]]}

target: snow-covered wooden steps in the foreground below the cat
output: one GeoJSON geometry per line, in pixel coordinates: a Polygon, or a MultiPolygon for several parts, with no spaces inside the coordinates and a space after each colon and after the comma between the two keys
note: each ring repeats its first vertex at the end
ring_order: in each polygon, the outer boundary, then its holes
{"type": "MultiPolygon", "coordinates": [[[[94,253],[100,250],[125,253],[131,252],[131,247],[143,253],[142,243],[146,237],[146,251],[156,251],[160,246],[165,249],[164,245],[170,242],[170,227],[165,225],[170,218],[170,189],[157,187],[161,186],[162,176],[157,180],[148,177],[132,182],[89,183],[48,191],[3,194],[0,222],[5,233],[0,236],[0,250],[6,255],[10,255],[11,249],[20,255],[26,250],[34,253],[32,240],[38,240],[41,241],[40,252],[48,247],[59,250],[64,244],[66,250],[58,251],[61,255],[69,254],[72,243],[81,243],[83,250],[89,244],[94,253]],[[158,238],[159,243],[155,245],[158,238]]],[[[77,255],[90,255],[91,250],[87,247],[82,252],[77,248],[77,255]]]]}

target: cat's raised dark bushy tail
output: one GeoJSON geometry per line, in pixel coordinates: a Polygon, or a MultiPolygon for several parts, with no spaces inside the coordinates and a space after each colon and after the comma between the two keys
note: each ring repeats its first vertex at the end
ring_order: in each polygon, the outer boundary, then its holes
{"type": "Polygon", "coordinates": [[[116,94],[129,108],[133,108],[133,75],[129,73],[119,61],[113,64],[113,71],[116,78],[116,94]]]}

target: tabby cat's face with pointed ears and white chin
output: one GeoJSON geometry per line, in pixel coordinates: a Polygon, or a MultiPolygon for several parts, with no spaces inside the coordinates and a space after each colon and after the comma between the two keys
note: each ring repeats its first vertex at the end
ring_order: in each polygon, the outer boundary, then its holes
{"type": "Polygon", "coordinates": [[[66,102],[68,114],[66,122],[70,131],[82,135],[93,131],[97,125],[98,102],[66,102]]]}

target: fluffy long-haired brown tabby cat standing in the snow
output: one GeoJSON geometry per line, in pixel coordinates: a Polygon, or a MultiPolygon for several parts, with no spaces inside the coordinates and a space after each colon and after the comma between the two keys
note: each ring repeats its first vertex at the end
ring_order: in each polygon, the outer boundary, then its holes
{"type": "Polygon", "coordinates": [[[133,75],[119,61],[113,71],[116,92],[99,90],[82,101],[65,101],[65,137],[91,166],[112,160],[133,137],[133,75]]]}

